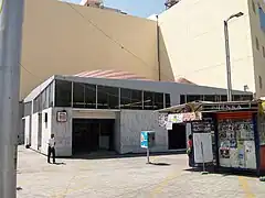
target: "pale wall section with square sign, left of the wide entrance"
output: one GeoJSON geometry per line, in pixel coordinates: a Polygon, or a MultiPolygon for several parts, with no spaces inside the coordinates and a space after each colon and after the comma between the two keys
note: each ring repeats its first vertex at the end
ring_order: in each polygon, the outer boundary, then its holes
{"type": "Polygon", "coordinates": [[[72,155],[72,109],[71,108],[54,108],[52,110],[52,133],[55,136],[56,156],[71,156],[72,155]],[[57,122],[57,111],[67,111],[67,122],[57,122]]]}

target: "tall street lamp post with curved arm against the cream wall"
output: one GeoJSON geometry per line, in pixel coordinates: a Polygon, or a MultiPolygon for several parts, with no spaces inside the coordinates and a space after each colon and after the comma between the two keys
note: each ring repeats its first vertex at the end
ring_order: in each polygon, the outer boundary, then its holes
{"type": "Polygon", "coordinates": [[[226,77],[227,77],[227,101],[232,101],[232,80],[231,80],[231,62],[230,62],[230,44],[229,44],[229,21],[233,18],[244,15],[243,12],[231,15],[224,21],[224,38],[225,38],[225,55],[226,55],[226,77]]]}

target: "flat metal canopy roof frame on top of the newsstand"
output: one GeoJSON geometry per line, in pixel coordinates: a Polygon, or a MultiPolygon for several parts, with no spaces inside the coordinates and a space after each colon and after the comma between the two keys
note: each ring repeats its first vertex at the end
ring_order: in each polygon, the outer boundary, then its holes
{"type": "Polygon", "coordinates": [[[221,112],[221,111],[240,111],[251,110],[258,111],[258,105],[261,100],[253,101],[225,101],[225,102],[212,102],[212,101],[193,101],[183,105],[172,106],[157,110],[159,113],[184,113],[184,112],[221,112]]]}

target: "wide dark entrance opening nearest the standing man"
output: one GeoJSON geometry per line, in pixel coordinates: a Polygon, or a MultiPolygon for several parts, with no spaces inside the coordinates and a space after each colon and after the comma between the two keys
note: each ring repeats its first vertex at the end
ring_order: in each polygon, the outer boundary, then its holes
{"type": "Polygon", "coordinates": [[[110,119],[74,119],[73,154],[114,150],[114,123],[110,119]]]}

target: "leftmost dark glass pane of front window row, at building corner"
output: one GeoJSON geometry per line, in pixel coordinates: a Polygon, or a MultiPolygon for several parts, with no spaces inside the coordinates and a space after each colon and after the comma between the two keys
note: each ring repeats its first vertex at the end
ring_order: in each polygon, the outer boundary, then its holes
{"type": "Polygon", "coordinates": [[[55,107],[71,107],[72,82],[55,80],[55,107]]]}

